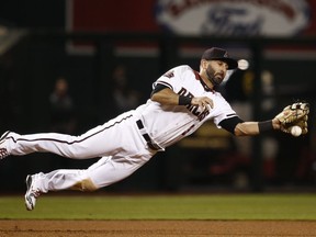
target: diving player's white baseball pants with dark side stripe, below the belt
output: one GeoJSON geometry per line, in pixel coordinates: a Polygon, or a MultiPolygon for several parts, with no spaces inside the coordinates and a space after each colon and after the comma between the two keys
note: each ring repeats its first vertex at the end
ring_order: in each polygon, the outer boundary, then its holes
{"type": "Polygon", "coordinates": [[[102,157],[88,169],[41,173],[36,184],[44,193],[66,189],[93,191],[131,176],[157,153],[148,148],[136,125],[138,119],[133,111],[126,112],[80,136],[10,133],[7,149],[15,156],[53,153],[74,159],[102,157]]]}

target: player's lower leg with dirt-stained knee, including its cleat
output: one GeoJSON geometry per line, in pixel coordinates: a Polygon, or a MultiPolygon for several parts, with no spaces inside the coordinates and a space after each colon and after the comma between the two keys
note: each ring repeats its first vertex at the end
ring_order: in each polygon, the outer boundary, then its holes
{"type": "Polygon", "coordinates": [[[87,170],[60,169],[49,173],[27,176],[25,205],[33,210],[41,193],[60,190],[94,191],[115,183],[136,171],[155,153],[145,153],[133,157],[103,157],[87,170]]]}

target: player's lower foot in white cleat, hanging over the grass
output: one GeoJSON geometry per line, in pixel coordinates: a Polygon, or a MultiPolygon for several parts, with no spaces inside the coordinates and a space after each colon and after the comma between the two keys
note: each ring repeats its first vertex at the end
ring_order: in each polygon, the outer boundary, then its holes
{"type": "Polygon", "coordinates": [[[25,206],[27,211],[32,211],[35,207],[36,199],[41,195],[41,191],[36,183],[38,182],[41,173],[26,177],[26,193],[25,193],[25,206]]]}

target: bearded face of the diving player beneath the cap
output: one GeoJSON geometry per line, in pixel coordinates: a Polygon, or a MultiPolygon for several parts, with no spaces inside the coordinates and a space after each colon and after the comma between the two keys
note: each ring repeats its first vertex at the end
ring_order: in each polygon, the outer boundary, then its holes
{"type": "Polygon", "coordinates": [[[205,74],[213,86],[218,86],[224,80],[227,69],[228,65],[225,61],[210,60],[205,74]]]}

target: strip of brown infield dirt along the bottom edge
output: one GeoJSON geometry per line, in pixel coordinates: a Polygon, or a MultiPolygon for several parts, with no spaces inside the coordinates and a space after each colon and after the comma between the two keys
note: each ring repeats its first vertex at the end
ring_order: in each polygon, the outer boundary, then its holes
{"type": "Polygon", "coordinates": [[[316,222],[0,221],[0,237],[316,236],[316,222]]]}

